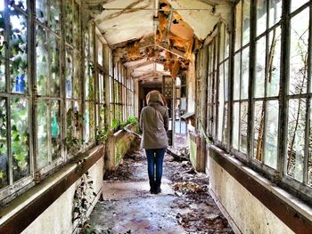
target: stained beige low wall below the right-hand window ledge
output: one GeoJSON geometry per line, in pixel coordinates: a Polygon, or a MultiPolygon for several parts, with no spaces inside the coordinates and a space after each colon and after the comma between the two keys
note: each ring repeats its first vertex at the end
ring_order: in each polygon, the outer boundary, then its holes
{"type": "Polygon", "coordinates": [[[210,192],[235,232],[294,233],[212,157],[209,157],[209,180],[210,192]]]}

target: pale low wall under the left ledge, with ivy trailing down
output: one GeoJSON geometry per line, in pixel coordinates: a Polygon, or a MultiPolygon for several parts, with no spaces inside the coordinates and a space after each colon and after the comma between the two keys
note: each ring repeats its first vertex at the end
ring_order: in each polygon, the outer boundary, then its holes
{"type": "MultiPolygon", "coordinates": [[[[102,192],[103,185],[103,158],[98,160],[89,170],[90,180],[93,181],[94,192],[98,194],[96,197],[89,199],[89,203],[92,203],[88,207],[87,214],[90,214],[95,203],[102,192]]],[[[76,225],[72,224],[72,211],[74,204],[74,194],[81,181],[70,186],[70,189],[66,190],[60,198],[58,198],[51,206],[49,206],[43,214],[37,217],[29,227],[24,230],[23,234],[45,233],[45,234],[69,234],[75,230],[76,225]]],[[[91,197],[91,196],[90,196],[91,197]]]]}

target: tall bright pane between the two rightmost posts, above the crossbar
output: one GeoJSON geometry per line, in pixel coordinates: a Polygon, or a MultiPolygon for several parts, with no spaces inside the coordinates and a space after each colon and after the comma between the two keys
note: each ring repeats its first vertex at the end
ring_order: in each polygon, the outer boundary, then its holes
{"type": "Polygon", "coordinates": [[[308,9],[291,19],[290,94],[307,93],[308,9]]]}

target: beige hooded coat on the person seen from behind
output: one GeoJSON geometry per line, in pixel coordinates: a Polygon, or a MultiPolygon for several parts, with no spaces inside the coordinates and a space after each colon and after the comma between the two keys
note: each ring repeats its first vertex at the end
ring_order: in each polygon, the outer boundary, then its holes
{"type": "Polygon", "coordinates": [[[168,147],[168,109],[161,94],[151,91],[146,96],[148,106],[141,111],[140,127],[143,132],[143,149],[164,149],[168,147]]]}

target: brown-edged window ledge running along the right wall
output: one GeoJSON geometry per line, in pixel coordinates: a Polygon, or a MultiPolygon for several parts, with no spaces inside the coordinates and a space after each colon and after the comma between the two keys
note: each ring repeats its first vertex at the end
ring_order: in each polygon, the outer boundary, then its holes
{"type": "Polygon", "coordinates": [[[215,145],[210,157],[295,233],[311,233],[312,208],[215,145]]]}

